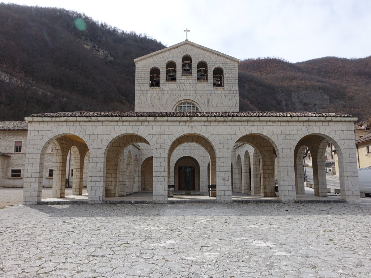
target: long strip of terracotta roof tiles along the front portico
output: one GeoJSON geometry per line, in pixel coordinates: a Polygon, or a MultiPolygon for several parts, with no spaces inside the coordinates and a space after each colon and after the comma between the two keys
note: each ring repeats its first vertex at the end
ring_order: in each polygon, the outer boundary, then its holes
{"type": "Polygon", "coordinates": [[[351,115],[317,112],[59,112],[33,114],[30,117],[336,117],[351,115]]]}

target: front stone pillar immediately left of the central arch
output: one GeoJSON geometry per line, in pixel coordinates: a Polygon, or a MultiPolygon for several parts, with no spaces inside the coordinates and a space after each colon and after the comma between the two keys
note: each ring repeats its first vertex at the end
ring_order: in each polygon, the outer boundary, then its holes
{"type": "Polygon", "coordinates": [[[168,149],[164,144],[155,144],[153,151],[153,201],[156,203],[167,203],[167,154],[168,149]]]}

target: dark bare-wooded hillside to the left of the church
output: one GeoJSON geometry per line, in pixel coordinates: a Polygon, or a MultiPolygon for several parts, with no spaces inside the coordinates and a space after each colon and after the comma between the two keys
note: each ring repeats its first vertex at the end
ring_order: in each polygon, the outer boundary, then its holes
{"type": "Polygon", "coordinates": [[[1,120],[133,110],[133,59],[164,48],[64,9],[0,3],[0,26],[1,120]]]}

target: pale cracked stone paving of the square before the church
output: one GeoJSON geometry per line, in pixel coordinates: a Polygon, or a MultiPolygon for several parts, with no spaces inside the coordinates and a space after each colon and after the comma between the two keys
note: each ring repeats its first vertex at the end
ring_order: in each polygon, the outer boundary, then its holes
{"type": "Polygon", "coordinates": [[[371,277],[371,204],[0,209],[0,277],[371,277]]]}

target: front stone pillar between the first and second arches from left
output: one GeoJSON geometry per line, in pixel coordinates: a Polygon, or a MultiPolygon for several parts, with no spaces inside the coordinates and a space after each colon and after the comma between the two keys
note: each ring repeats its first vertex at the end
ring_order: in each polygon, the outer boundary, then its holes
{"type": "Polygon", "coordinates": [[[93,144],[89,146],[89,197],[88,203],[102,203],[105,196],[106,163],[104,152],[106,145],[93,144]]]}

